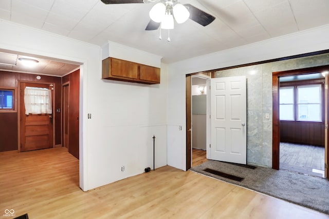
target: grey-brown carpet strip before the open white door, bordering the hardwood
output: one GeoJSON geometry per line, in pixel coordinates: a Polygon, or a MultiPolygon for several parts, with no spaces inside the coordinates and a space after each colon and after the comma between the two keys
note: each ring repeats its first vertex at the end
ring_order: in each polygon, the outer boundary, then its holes
{"type": "Polygon", "coordinates": [[[329,181],[318,176],[273,170],[260,166],[249,169],[211,160],[190,170],[329,214],[329,181]],[[239,176],[244,180],[241,182],[230,180],[204,171],[206,168],[239,176]]]}

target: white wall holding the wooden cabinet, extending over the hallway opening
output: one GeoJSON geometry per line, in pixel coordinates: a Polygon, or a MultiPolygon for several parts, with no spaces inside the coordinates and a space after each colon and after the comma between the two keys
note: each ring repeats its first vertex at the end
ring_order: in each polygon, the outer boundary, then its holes
{"type": "Polygon", "coordinates": [[[155,167],[167,164],[167,66],[161,66],[160,85],[102,80],[100,47],[2,20],[0,29],[0,50],[83,64],[79,171],[84,191],[152,168],[153,135],[155,167]]]}

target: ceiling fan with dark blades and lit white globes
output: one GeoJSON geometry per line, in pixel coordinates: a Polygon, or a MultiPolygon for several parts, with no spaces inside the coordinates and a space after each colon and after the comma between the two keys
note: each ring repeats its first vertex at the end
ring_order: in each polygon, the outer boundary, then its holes
{"type": "MultiPolygon", "coordinates": [[[[101,0],[104,4],[132,4],[153,3],[150,10],[150,22],[145,30],[174,29],[174,18],[178,24],[184,23],[188,18],[192,21],[207,26],[214,21],[215,17],[190,4],[180,4],[177,0],[101,0]]],[[[161,39],[161,34],[160,37],[161,39]]],[[[168,37],[170,41],[170,37],[168,37]]]]}

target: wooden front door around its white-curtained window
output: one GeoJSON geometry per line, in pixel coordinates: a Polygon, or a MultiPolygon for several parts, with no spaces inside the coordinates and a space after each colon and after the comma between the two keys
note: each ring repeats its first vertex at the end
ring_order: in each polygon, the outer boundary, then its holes
{"type": "MultiPolygon", "coordinates": [[[[47,88],[51,90],[53,96],[52,85],[21,83],[21,151],[38,150],[53,147],[53,118],[52,114],[28,114],[25,112],[25,88],[47,88]]],[[[51,98],[53,99],[53,98],[51,98]]]]}

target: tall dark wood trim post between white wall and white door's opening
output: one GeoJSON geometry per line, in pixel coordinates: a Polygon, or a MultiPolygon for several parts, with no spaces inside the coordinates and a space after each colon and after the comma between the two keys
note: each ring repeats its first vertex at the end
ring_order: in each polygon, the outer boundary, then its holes
{"type": "Polygon", "coordinates": [[[186,76],[186,170],[191,168],[191,138],[192,138],[192,76],[186,76]]]}

